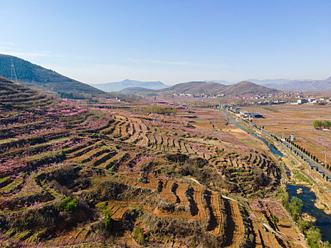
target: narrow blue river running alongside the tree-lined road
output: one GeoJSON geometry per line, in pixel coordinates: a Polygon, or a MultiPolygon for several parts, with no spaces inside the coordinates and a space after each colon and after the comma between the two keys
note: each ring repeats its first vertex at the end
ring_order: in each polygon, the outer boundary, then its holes
{"type": "MultiPolygon", "coordinates": [[[[241,128],[245,132],[249,133],[250,135],[253,135],[254,137],[257,137],[259,140],[262,140],[271,150],[273,154],[278,155],[279,157],[283,157],[283,154],[279,152],[279,150],[274,147],[274,145],[270,144],[265,140],[263,137],[259,137],[256,133],[249,132],[245,128],[243,128],[237,121],[233,120],[227,113],[220,112],[218,109],[216,109],[218,113],[223,113],[228,117],[228,119],[231,121],[232,124],[237,125],[238,128],[241,128]]],[[[288,176],[291,176],[291,171],[285,166],[286,174],[288,176]]],[[[312,215],[314,218],[316,218],[315,227],[318,227],[320,229],[320,233],[322,234],[322,240],[323,241],[329,241],[331,242],[331,215],[327,215],[322,210],[318,209],[314,205],[314,201],[316,200],[315,193],[310,191],[309,188],[304,186],[297,186],[292,184],[286,184],[288,196],[291,199],[292,196],[296,196],[303,202],[303,213],[308,213],[309,215],[312,215]],[[302,188],[303,193],[298,194],[296,193],[296,190],[298,188],[302,188]]]]}

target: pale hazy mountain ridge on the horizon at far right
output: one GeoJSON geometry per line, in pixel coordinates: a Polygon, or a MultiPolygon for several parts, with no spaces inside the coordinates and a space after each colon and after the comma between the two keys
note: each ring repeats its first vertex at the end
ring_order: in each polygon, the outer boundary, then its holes
{"type": "Polygon", "coordinates": [[[331,77],[325,80],[293,80],[283,84],[266,86],[284,91],[331,91],[331,77]]]}

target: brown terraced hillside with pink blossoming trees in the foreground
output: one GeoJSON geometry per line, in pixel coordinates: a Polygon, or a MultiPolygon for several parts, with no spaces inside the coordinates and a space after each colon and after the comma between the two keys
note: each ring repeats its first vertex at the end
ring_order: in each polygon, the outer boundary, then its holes
{"type": "Polygon", "coordinates": [[[134,108],[0,87],[1,246],[292,247],[299,237],[291,220],[291,237],[264,230],[270,216],[245,198],[275,193],[276,159],[214,110],[153,123],[134,108]]]}

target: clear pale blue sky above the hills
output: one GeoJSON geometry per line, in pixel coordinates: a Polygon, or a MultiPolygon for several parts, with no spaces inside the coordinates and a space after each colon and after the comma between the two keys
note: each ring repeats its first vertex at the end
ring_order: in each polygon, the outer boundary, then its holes
{"type": "Polygon", "coordinates": [[[86,83],[325,79],[331,1],[7,1],[0,53],[86,83]]]}

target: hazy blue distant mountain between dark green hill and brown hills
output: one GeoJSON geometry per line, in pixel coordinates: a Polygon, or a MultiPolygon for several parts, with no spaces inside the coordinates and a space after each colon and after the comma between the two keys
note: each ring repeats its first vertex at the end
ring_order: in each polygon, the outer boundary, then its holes
{"type": "Polygon", "coordinates": [[[164,89],[169,87],[168,85],[163,84],[161,81],[136,81],[130,79],[125,79],[123,81],[118,81],[114,83],[91,84],[91,85],[103,91],[120,91],[122,89],[130,88],[130,87],[141,87],[148,89],[164,89]]]}

